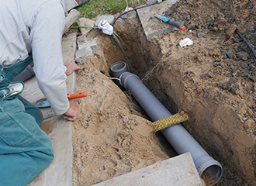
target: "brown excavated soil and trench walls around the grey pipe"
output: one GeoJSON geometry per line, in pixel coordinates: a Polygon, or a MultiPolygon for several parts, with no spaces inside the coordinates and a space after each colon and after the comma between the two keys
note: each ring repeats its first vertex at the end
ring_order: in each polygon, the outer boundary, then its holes
{"type": "MultiPolygon", "coordinates": [[[[139,19],[117,22],[114,30],[133,73],[171,113],[189,113],[182,123],[223,166],[216,185],[256,185],[255,1],[181,0],[165,12],[185,31],[147,41],[139,19]],[[182,39],[193,45],[180,47],[182,39]]],[[[79,63],[81,112],[73,123],[74,185],[92,185],[177,155],[129,91],[113,83],[109,67],[123,53],[101,31],[94,56],[79,63]]]]}

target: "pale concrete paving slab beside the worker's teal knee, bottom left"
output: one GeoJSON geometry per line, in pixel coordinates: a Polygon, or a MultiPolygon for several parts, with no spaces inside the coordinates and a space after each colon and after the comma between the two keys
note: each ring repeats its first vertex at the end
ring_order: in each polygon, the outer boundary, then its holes
{"type": "Polygon", "coordinates": [[[27,186],[73,185],[73,147],[71,122],[60,115],[43,121],[41,129],[47,133],[54,146],[54,161],[27,186]]]}

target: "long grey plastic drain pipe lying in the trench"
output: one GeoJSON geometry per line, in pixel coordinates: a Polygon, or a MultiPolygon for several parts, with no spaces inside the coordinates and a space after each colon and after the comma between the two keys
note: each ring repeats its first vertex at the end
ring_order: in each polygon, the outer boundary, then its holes
{"type": "MultiPolygon", "coordinates": [[[[120,84],[126,90],[131,91],[133,97],[144,108],[150,119],[157,121],[171,115],[171,112],[148,90],[137,75],[125,72],[120,75],[119,79],[121,80],[120,84]]],[[[213,180],[215,177],[217,177],[216,182],[220,181],[223,174],[221,164],[210,157],[181,124],[162,129],[161,133],[164,134],[177,153],[191,153],[199,175],[201,176],[204,171],[211,175],[211,178],[205,181],[213,180]]]]}

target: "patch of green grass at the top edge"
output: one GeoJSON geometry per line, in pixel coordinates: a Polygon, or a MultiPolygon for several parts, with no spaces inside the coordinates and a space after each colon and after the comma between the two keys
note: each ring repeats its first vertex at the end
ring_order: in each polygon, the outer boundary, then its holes
{"type": "MultiPolygon", "coordinates": [[[[128,0],[129,7],[136,7],[147,0],[128,0]]],[[[97,15],[121,13],[126,9],[126,0],[91,0],[76,8],[81,17],[91,19],[97,15]]]]}

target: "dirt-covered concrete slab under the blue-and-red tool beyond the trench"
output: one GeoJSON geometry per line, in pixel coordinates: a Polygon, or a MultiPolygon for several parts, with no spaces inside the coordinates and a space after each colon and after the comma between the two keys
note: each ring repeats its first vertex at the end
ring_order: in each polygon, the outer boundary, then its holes
{"type": "Polygon", "coordinates": [[[137,9],[147,40],[150,40],[152,36],[156,36],[161,33],[169,33],[171,30],[176,29],[174,26],[171,26],[170,24],[155,17],[155,15],[164,15],[164,12],[170,9],[171,5],[175,4],[175,2],[178,2],[178,0],[166,0],[159,4],[147,6],[143,9],[137,9]]]}

